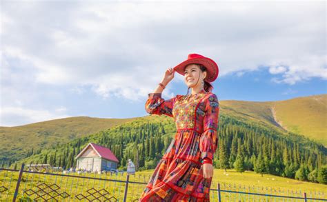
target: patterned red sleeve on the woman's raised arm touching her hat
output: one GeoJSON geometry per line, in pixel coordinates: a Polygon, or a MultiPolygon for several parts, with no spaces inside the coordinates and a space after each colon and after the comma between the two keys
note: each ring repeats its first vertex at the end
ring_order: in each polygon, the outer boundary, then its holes
{"type": "Polygon", "coordinates": [[[161,98],[161,93],[149,93],[148,100],[146,101],[146,112],[149,114],[165,114],[172,117],[172,107],[177,97],[164,100],[161,98]]]}

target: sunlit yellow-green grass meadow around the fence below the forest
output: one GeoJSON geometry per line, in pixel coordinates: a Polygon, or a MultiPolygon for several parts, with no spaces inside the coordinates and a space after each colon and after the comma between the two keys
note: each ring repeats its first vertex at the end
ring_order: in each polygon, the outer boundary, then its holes
{"type": "MultiPolygon", "coordinates": [[[[140,183],[128,184],[127,201],[134,201],[139,198],[152,172],[153,170],[146,170],[136,172],[135,175],[130,176],[130,182],[140,183]]],[[[0,172],[0,192],[1,188],[2,190],[3,188],[8,188],[8,190],[1,192],[0,200],[10,201],[12,199],[18,174],[18,172],[12,171],[0,172]]],[[[57,172],[57,174],[62,173],[57,172]]],[[[21,185],[19,186],[18,198],[21,201],[28,201],[35,199],[37,194],[39,194],[43,195],[46,199],[49,199],[50,196],[56,197],[59,201],[79,201],[79,199],[81,201],[88,201],[85,199],[93,200],[99,197],[99,199],[104,200],[105,198],[101,196],[102,194],[106,198],[115,196],[116,199],[122,201],[126,177],[126,174],[70,173],[69,176],[56,176],[24,172],[21,185]],[[82,176],[84,178],[77,178],[76,176],[82,176]],[[66,196],[68,197],[64,199],[66,196]]],[[[214,190],[217,189],[217,183],[220,183],[220,189],[223,190],[221,192],[221,201],[290,201],[290,199],[277,197],[227,193],[224,190],[297,197],[303,197],[304,192],[306,192],[307,197],[327,198],[327,185],[296,181],[270,174],[261,176],[255,172],[244,172],[241,174],[233,170],[228,170],[228,172],[215,170],[211,185],[212,192],[210,192],[211,201],[218,201],[218,192],[214,190]]],[[[299,199],[292,200],[303,201],[299,199]]]]}

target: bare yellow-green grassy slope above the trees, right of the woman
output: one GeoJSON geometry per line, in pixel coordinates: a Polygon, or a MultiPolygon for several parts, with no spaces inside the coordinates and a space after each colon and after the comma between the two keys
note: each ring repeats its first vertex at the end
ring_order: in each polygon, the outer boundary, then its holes
{"type": "Polygon", "coordinates": [[[327,94],[285,101],[220,101],[221,113],[241,120],[256,120],[275,125],[327,146],[327,94]]]}

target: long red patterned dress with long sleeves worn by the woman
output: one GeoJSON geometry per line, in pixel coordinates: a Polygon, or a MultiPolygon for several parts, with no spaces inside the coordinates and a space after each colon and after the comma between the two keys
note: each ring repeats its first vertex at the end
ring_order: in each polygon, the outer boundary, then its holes
{"type": "Polygon", "coordinates": [[[139,201],[210,201],[212,178],[204,178],[201,165],[217,149],[216,94],[201,90],[165,101],[161,93],[149,93],[146,112],[173,117],[177,132],[139,201]]]}

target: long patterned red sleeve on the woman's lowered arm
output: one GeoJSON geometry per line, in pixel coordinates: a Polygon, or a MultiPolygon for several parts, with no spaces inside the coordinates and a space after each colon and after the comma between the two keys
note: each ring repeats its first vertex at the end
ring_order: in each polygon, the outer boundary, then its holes
{"type": "Polygon", "coordinates": [[[210,94],[206,99],[206,114],[204,114],[204,132],[200,137],[199,149],[201,151],[202,163],[212,163],[213,154],[218,145],[218,119],[219,101],[216,94],[210,94]]]}

